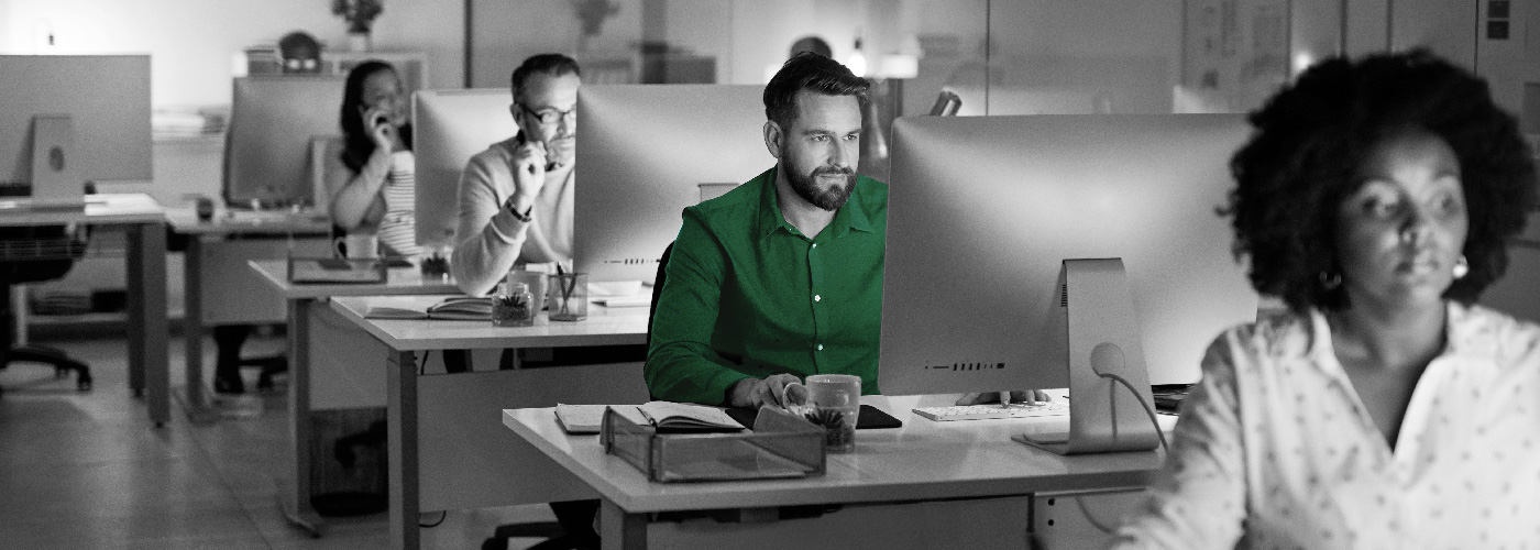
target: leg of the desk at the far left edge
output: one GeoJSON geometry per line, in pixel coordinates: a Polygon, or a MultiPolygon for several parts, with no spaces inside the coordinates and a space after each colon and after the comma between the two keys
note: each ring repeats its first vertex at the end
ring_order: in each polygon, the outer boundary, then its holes
{"type": "Polygon", "coordinates": [[[171,421],[171,365],[166,351],[166,226],[128,230],[128,387],[148,396],[149,421],[171,421]],[[148,391],[146,391],[148,390],[148,391]]]}

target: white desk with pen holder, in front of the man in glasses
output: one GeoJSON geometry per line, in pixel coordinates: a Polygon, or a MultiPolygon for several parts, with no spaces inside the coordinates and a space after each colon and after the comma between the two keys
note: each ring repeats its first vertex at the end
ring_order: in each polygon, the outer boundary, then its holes
{"type": "Polygon", "coordinates": [[[390,539],[420,545],[417,513],[596,498],[564,468],[499,424],[508,407],[638,404],[647,401],[642,365],[585,365],[422,376],[417,351],[522,347],[636,345],[647,339],[647,308],[593,305],[588,319],[534,327],[485,320],[363,319],[370,305],[425,308],[437,297],[339,297],[333,310],[391,348],[390,539]]]}

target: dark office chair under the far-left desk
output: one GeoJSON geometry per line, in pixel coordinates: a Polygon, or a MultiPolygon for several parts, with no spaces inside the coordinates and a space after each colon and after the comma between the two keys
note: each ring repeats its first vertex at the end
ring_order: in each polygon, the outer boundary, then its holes
{"type": "Polygon", "coordinates": [[[63,351],[42,345],[15,345],[15,311],[11,285],[63,277],[85,254],[85,240],[75,239],[63,225],[0,228],[0,368],[12,362],[40,362],[54,367],[57,377],[75,371],[75,388],[91,390],[91,367],[71,359],[63,351]]]}

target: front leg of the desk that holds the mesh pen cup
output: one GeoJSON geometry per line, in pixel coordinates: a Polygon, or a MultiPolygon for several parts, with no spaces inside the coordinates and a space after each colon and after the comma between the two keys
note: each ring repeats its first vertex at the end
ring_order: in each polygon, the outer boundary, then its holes
{"type": "Polygon", "coordinates": [[[390,445],[390,539],[397,550],[417,550],[417,356],[390,353],[385,422],[390,445]]]}

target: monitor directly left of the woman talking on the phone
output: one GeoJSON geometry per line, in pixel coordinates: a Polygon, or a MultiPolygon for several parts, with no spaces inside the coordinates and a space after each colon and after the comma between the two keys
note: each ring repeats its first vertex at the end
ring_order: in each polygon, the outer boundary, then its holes
{"type": "Polygon", "coordinates": [[[248,206],[319,205],[313,139],[342,136],[340,75],[251,75],[234,80],[225,132],[225,202],[248,206]]]}

